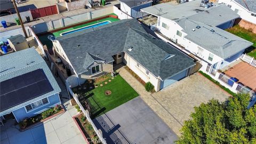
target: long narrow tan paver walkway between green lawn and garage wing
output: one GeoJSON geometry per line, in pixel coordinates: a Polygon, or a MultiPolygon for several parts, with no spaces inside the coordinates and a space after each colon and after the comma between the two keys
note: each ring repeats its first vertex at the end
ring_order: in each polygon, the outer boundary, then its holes
{"type": "Polygon", "coordinates": [[[147,105],[169,126],[172,130],[180,135],[180,127],[182,126],[162,105],[159,103],[151,93],[145,90],[145,87],[137,81],[124,67],[120,68],[119,74],[129,83],[135,91],[140,94],[140,97],[147,105]]]}

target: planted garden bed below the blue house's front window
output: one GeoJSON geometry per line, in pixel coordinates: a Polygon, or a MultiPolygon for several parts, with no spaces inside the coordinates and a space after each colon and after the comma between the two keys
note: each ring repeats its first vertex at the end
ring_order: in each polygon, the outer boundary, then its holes
{"type": "Polygon", "coordinates": [[[26,131],[30,127],[33,127],[33,126],[35,126],[39,123],[47,121],[48,119],[50,119],[52,117],[55,117],[57,115],[60,115],[62,113],[65,113],[65,110],[62,108],[61,105],[57,105],[53,108],[45,110],[41,114],[38,114],[36,116],[24,119],[22,122],[19,123],[20,130],[21,131],[26,131]]]}

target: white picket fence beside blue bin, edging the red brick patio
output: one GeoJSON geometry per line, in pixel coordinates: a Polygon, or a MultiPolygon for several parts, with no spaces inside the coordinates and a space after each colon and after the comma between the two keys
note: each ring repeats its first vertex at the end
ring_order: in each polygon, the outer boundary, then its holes
{"type": "Polygon", "coordinates": [[[234,93],[244,93],[253,95],[256,94],[255,91],[250,89],[249,87],[235,82],[231,77],[224,73],[220,73],[217,69],[209,68],[205,71],[207,74],[210,74],[210,76],[215,79],[215,81],[218,81],[221,85],[227,87],[229,90],[233,91],[234,93]]]}

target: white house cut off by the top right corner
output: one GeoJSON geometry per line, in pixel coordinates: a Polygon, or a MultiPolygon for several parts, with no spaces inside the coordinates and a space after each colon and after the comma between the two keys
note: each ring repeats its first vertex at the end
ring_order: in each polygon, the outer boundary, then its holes
{"type": "Polygon", "coordinates": [[[231,10],[239,14],[242,19],[256,24],[255,0],[219,0],[218,3],[225,3],[231,10]]]}

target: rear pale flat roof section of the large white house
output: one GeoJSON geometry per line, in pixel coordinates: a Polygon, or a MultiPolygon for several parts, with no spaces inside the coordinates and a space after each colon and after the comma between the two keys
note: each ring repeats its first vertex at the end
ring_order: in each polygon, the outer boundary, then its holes
{"type": "Polygon", "coordinates": [[[212,6],[209,9],[200,6],[200,4],[201,1],[191,1],[179,5],[162,3],[146,7],[142,11],[173,21],[188,18],[212,26],[218,26],[224,22],[239,18],[239,15],[225,4],[212,6]]]}

